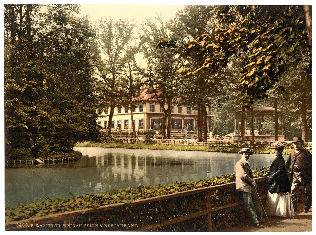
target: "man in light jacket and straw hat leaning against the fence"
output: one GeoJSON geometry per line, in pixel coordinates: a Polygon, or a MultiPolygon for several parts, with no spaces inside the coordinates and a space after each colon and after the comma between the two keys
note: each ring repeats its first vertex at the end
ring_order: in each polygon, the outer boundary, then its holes
{"type": "Polygon", "coordinates": [[[243,148],[240,152],[241,159],[236,163],[236,190],[242,191],[246,209],[251,224],[257,228],[264,228],[262,225],[262,208],[254,187],[257,183],[253,180],[252,171],[248,159],[253,153],[249,148],[243,148]]]}

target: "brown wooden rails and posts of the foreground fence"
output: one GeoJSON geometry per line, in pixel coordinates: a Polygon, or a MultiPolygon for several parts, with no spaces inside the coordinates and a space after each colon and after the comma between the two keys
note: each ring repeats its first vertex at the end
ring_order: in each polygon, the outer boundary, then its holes
{"type": "MultiPolygon", "coordinates": [[[[266,181],[265,177],[259,177],[256,178],[256,182],[261,182],[261,181],[266,181]]],[[[187,191],[182,191],[182,192],[177,192],[173,194],[167,194],[167,195],[162,195],[162,196],[155,196],[155,197],[150,197],[134,202],[125,202],[125,203],[117,203],[117,204],[110,204],[110,205],[105,205],[101,206],[99,208],[89,208],[89,209],[82,209],[82,210],[76,210],[76,211],[69,211],[69,212],[64,212],[64,213],[58,213],[58,214],[52,214],[52,215],[47,215],[39,218],[30,218],[26,220],[20,220],[20,221],[11,221],[9,223],[5,224],[5,230],[19,230],[19,229],[26,229],[33,227],[35,225],[44,225],[44,224],[51,224],[51,223],[56,223],[59,221],[63,221],[63,227],[64,231],[67,231],[67,225],[70,224],[70,218],[80,216],[80,215],[85,215],[87,216],[88,214],[92,213],[100,213],[100,212],[105,212],[108,210],[112,209],[119,209],[119,208],[126,208],[126,207],[131,207],[131,206],[136,206],[136,205],[142,205],[142,204],[148,204],[150,202],[162,202],[167,199],[171,198],[181,198],[183,196],[188,196],[188,195],[193,195],[193,194],[199,194],[199,193],[205,193],[205,208],[201,211],[197,211],[191,214],[186,214],[183,216],[179,216],[176,218],[172,218],[169,220],[165,220],[161,223],[155,223],[151,224],[148,226],[143,226],[139,228],[135,228],[132,231],[149,231],[152,229],[160,228],[166,225],[171,225],[178,223],[180,221],[196,218],[202,215],[207,214],[207,221],[208,221],[208,231],[212,231],[212,219],[211,219],[211,213],[222,210],[225,208],[230,208],[230,207],[235,207],[238,205],[243,204],[243,201],[239,201],[237,203],[232,203],[224,206],[219,206],[219,207],[212,207],[210,203],[210,192],[214,190],[219,190],[219,189],[225,189],[225,188],[231,188],[235,187],[235,182],[233,183],[227,183],[227,184],[221,184],[221,185],[215,185],[215,186],[209,186],[209,187],[204,187],[204,188],[198,188],[198,189],[193,189],[193,190],[187,190],[187,191]],[[19,226],[17,226],[19,225],[19,226]]],[[[265,198],[266,195],[260,196],[261,198],[265,198]]]]}

